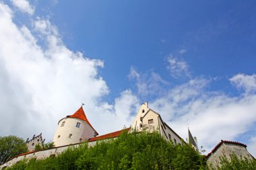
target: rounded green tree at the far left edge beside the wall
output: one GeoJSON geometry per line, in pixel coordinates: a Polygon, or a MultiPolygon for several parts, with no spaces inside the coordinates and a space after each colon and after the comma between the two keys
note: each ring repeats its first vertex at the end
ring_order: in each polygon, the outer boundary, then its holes
{"type": "Polygon", "coordinates": [[[26,153],[28,148],[26,142],[17,136],[0,136],[0,164],[11,157],[26,153]]]}

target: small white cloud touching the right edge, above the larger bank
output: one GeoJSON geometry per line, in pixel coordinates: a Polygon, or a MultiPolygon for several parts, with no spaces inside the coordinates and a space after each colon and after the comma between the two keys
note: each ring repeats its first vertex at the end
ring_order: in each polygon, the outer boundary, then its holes
{"type": "Polygon", "coordinates": [[[238,74],[229,79],[238,89],[244,89],[247,93],[256,90],[256,75],[238,74]]]}

